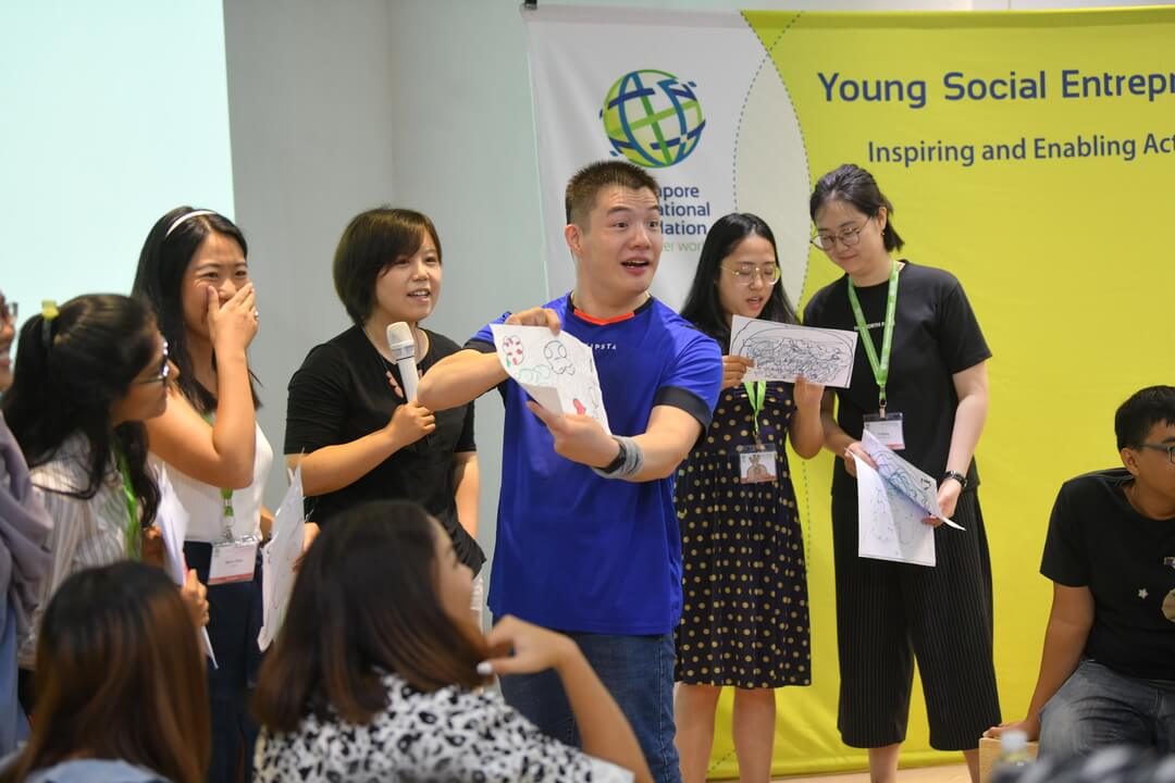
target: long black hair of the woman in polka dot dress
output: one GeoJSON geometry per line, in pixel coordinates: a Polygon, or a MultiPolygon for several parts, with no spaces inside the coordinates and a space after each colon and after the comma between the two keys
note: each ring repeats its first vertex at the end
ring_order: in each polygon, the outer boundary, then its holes
{"type": "MultiPolygon", "coordinates": [[[[724,350],[730,344],[731,330],[730,324],[726,323],[726,312],[718,298],[718,276],[723,274],[720,269],[723,259],[731,255],[734,247],[748,236],[761,236],[770,242],[776,264],[779,264],[776,235],[772,234],[766,221],[751,212],[724,215],[706,232],[706,241],[701,245],[701,256],[698,258],[698,270],[693,275],[690,293],[682,308],[682,317],[705,335],[718,340],[724,350]]],[[[797,323],[795,309],[792,308],[792,303],[784,292],[783,281],[771,286],[767,304],[764,305],[759,318],[787,324],[797,323]]]]}

